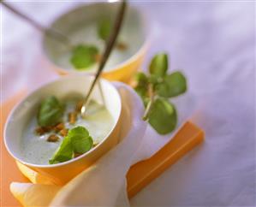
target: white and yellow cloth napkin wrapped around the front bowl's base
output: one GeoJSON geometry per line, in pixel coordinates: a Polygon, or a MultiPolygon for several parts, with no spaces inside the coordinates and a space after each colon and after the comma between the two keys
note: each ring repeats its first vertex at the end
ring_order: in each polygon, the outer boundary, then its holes
{"type": "Polygon", "coordinates": [[[32,183],[13,182],[10,191],[23,206],[128,206],[126,174],[146,132],[144,106],[129,86],[114,83],[122,97],[121,142],[65,186],[17,163],[32,183]]]}

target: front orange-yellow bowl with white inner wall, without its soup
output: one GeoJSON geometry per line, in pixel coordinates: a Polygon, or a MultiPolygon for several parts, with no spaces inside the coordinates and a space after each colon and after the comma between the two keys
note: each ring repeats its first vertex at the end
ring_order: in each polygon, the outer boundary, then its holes
{"type": "MultiPolygon", "coordinates": [[[[104,93],[105,106],[110,111],[114,124],[110,133],[97,146],[80,157],[52,165],[27,163],[22,157],[22,133],[27,127],[28,121],[36,114],[41,100],[51,95],[63,99],[70,96],[70,94],[86,94],[92,80],[92,76],[88,75],[68,75],[40,87],[35,92],[29,94],[27,98],[23,99],[23,101],[13,109],[5,125],[4,143],[9,154],[14,157],[16,161],[25,164],[27,167],[39,172],[39,174],[45,174],[57,185],[62,185],[68,180],[71,180],[76,174],[79,174],[82,170],[89,167],[99,157],[116,145],[119,140],[120,131],[120,116],[122,112],[121,98],[116,88],[110,84],[109,81],[100,80],[104,93]]],[[[101,100],[98,87],[95,87],[93,90],[92,98],[98,101],[101,100]]]]}

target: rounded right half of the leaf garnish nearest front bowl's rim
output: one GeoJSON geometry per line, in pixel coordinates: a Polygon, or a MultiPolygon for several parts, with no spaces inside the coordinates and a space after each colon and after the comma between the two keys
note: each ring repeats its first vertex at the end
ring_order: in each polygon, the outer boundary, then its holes
{"type": "Polygon", "coordinates": [[[92,149],[93,140],[85,127],[74,127],[69,130],[68,138],[71,139],[74,152],[82,154],[92,149]]]}

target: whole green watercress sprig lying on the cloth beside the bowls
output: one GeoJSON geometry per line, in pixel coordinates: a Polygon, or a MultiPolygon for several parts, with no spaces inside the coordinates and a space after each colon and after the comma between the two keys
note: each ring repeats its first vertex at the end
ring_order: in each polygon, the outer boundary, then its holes
{"type": "Polygon", "coordinates": [[[143,120],[160,134],[172,132],[177,124],[176,108],[166,98],[187,91],[185,76],[179,71],[167,74],[167,70],[168,56],[159,53],[151,61],[150,74],[140,72],[136,75],[137,85],[134,87],[146,107],[143,120]]]}

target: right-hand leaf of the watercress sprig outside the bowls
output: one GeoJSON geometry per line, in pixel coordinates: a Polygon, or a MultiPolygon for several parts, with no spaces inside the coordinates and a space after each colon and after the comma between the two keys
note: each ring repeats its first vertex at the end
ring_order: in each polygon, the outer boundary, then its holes
{"type": "Polygon", "coordinates": [[[179,96],[187,91],[187,80],[185,76],[177,71],[164,77],[164,81],[156,86],[158,96],[171,98],[179,96]]]}

